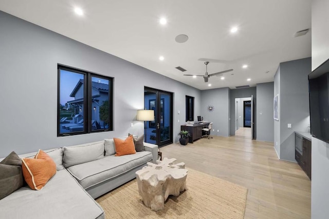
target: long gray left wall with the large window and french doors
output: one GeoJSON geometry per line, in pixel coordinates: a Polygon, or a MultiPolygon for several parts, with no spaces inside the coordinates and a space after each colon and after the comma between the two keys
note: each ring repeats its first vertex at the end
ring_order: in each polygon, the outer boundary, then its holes
{"type": "Polygon", "coordinates": [[[0,157],[141,135],[136,115],[144,86],[174,93],[174,140],[185,121],[185,95],[195,97],[194,114],[201,113],[198,89],[1,11],[0,30],[0,157]],[[57,137],[58,63],[114,77],[114,131],[57,137]]]}

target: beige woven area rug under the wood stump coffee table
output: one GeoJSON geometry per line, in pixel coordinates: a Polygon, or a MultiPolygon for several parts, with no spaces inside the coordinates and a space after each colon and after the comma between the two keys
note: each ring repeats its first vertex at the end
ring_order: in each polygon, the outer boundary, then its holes
{"type": "Polygon", "coordinates": [[[165,209],[144,206],[136,179],[97,198],[106,218],[243,218],[247,189],[189,169],[188,190],[170,195],[165,209]]]}

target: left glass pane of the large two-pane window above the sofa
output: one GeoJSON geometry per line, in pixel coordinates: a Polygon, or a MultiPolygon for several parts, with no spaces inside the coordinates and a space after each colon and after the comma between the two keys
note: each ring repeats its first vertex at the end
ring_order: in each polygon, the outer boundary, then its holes
{"type": "Polygon", "coordinates": [[[60,134],[85,131],[83,125],[85,75],[60,69],[60,134]]]}

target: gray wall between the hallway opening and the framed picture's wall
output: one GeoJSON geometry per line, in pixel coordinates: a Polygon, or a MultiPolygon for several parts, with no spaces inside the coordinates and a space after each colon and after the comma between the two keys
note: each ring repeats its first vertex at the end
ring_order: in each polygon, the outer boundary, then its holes
{"type": "Polygon", "coordinates": [[[257,140],[274,141],[273,92],[274,82],[257,84],[257,140]],[[262,112],[262,114],[260,114],[262,112]]]}

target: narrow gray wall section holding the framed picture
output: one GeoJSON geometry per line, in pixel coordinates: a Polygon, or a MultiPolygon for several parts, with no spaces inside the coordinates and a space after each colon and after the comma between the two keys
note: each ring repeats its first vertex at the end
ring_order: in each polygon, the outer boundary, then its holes
{"type": "MultiPolygon", "coordinates": [[[[274,95],[273,98],[279,94],[279,112],[280,112],[280,65],[277,69],[276,74],[274,75],[274,95]]],[[[273,106],[273,103],[272,103],[273,106]]],[[[273,123],[274,123],[274,148],[277,152],[278,157],[280,158],[280,113],[279,113],[279,121],[274,120],[273,118],[273,123]]]]}

